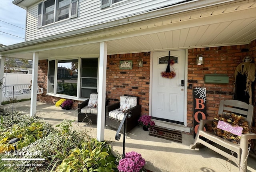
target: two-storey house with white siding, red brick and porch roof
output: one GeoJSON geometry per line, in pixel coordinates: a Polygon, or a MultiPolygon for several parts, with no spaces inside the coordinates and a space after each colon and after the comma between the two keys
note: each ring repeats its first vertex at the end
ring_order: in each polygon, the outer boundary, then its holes
{"type": "MultiPolygon", "coordinates": [[[[0,55],[33,59],[34,80],[38,76],[44,87],[37,100],[46,103],[67,98],[77,105],[92,92],[102,97],[106,92],[111,103],[123,94],[137,95],[142,115],[151,115],[157,125],[192,133],[189,88],[206,87],[207,115],[212,118],[221,99],[233,99],[236,66],[247,55],[256,61],[255,0],[13,3],[27,10],[26,41],[1,47],[0,55]],[[199,54],[203,65],[196,64],[199,54]],[[176,60],[173,79],[160,75],[169,56],[176,60]],[[132,61],[132,69],[120,68],[123,61],[132,61]],[[59,64],[71,63],[77,64],[77,78],[60,83],[59,64]],[[212,73],[228,75],[229,83],[205,83],[204,75],[212,73]],[[60,84],[64,91],[69,85],[75,92],[58,91],[60,84]]],[[[35,113],[33,107],[31,113],[35,113]]],[[[98,123],[98,128],[102,126],[98,123]]]]}

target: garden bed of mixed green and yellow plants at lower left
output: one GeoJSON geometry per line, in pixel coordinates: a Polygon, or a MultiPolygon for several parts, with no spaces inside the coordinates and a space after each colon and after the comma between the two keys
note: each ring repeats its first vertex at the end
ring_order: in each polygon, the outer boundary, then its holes
{"type": "Polygon", "coordinates": [[[72,121],[63,121],[54,128],[27,115],[1,116],[0,133],[2,145],[7,145],[2,146],[0,159],[30,158],[1,160],[1,172],[118,172],[119,158],[111,154],[110,144],[72,130],[72,121]],[[14,147],[8,144],[14,137],[20,138],[16,143],[18,153],[11,152],[14,147]]]}

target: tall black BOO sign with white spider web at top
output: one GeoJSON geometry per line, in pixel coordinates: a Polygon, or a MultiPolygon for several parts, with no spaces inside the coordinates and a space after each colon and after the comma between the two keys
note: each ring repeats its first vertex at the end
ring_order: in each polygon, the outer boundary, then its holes
{"type": "MultiPolygon", "coordinates": [[[[194,138],[199,127],[201,119],[206,119],[206,88],[196,87],[193,90],[194,95],[194,138]]],[[[206,125],[204,127],[206,130],[206,125]]]]}

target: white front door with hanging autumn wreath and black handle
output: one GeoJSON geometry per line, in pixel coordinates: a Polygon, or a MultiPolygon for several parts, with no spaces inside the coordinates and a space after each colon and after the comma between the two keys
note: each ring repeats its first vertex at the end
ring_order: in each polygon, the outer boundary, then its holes
{"type": "Polygon", "coordinates": [[[170,51],[170,58],[176,61],[170,70],[176,76],[169,79],[161,75],[168,65],[169,51],[153,52],[152,117],[184,124],[185,55],[185,50],[170,51]]]}

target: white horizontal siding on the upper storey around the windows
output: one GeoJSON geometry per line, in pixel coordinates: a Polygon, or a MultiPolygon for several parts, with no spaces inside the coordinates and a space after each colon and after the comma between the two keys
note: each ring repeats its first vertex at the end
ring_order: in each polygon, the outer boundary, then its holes
{"type": "MultiPolygon", "coordinates": [[[[86,28],[97,24],[118,20],[127,16],[151,11],[181,0],[123,0],[101,9],[101,0],[78,0],[76,18],[42,26],[38,29],[38,4],[28,8],[26,41],[86,28]],[[72,26],[72,27],[70,27],[72,26]],[[60,29],[61,28],[61,29],[60,29]]],[[[72,1],[73,2],[73,1],[72,1]]]]}

